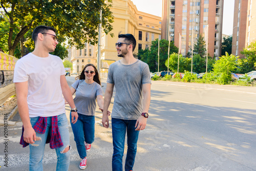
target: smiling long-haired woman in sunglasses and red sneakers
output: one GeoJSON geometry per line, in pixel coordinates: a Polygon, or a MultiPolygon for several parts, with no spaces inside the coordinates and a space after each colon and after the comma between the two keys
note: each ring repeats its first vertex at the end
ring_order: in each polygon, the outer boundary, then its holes
{"type": "Polygon", "coordinates": [[[94,141],[96,99],[99,109],[103,111],[103,91],[100,86],[99,73],[93,64],[86,65],[77,78],[78,80],[72,84],[71,92],[72,94],[76,92],[74,102],[77,107],[78,119],[75,124],[71,123],[71,126],[77,151],[82,159],[79,167],[85,169],[87,163],[86,152],[90,151],[91,143],[94,141]],[[84,142],[86,142],[86,145],[84,145],[84,142]]]}

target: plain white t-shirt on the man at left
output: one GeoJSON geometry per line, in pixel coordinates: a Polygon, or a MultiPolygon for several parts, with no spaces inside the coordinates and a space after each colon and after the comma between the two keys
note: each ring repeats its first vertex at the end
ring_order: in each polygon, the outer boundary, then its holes
{"type": "Polygon", "coordinates": [[[60,76],[65,74],[61,59],[51,54],[38,57],[29,53],[16,62],[13,82],[28,81],[29,117],[66,113],[60,87],[60,76]]]}

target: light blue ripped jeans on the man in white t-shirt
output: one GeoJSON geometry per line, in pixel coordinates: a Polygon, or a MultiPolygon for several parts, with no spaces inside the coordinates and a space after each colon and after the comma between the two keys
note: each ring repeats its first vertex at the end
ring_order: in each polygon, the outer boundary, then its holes
{"type": "MultiPolygon", "coordinates": [[[[30,118],[31,125],[34,126],[39,117],[30,118]]],[[[29,144],[30,149],[30,157],[29,157],[29,170],[42,171],[42,158],[44,157],[46,140],[48,136],[48,132],[51,131],[52,118],[48,117],[47,119],[47,127],[45,134],[39,134],[36,132],[36,137],[40,137],[41,140],[35,141],[33,144],[29,144]]],[[[58,128],[61,137],[61,141],[63,142],[63,146],[56,148],[57,154],[57,167],[56,170],[69,170],[70,163],[70,151],[67,153],[62,153],[62,151],[70,146],[69,142],[69,126],[68,119],[66,114],[58,115],[58,128]]]]}

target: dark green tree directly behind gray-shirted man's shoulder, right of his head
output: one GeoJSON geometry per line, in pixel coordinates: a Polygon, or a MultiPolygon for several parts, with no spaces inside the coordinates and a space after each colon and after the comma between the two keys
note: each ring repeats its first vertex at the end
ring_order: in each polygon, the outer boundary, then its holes
{"type": "MultiPolygon", "coordinates": [[[[165,39],[159,41],[159,71],[166,71],[165,61],[168,56],[169,42],[165,39]]],[[[170,42],[169,54],[178,53],[178,48],[174,46],[174,42],[170,42]]],[[[158,39],[152,41],[150,50],[139,50],[138,58],[147,63],[151,72],[158,71],[158,39]]]]}

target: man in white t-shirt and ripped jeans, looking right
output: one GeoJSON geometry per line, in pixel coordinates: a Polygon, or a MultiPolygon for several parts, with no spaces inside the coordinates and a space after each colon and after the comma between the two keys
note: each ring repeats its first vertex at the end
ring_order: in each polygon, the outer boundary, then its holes
{"type": "Polygon", "coordinates": [[[35,49],[19,59],[14,69],[17,104],[23,122],[20,144],[29,145],[29,170],[43,170],[45,145],[50,142],[57,154],[56,170],[68,170],[70,142],[65,97],[71,106],[72,123],[77,109],[65,78],[65,69],[54,52],[58,41],[52,27],[38,26],[32,33],[35,49]]]}

